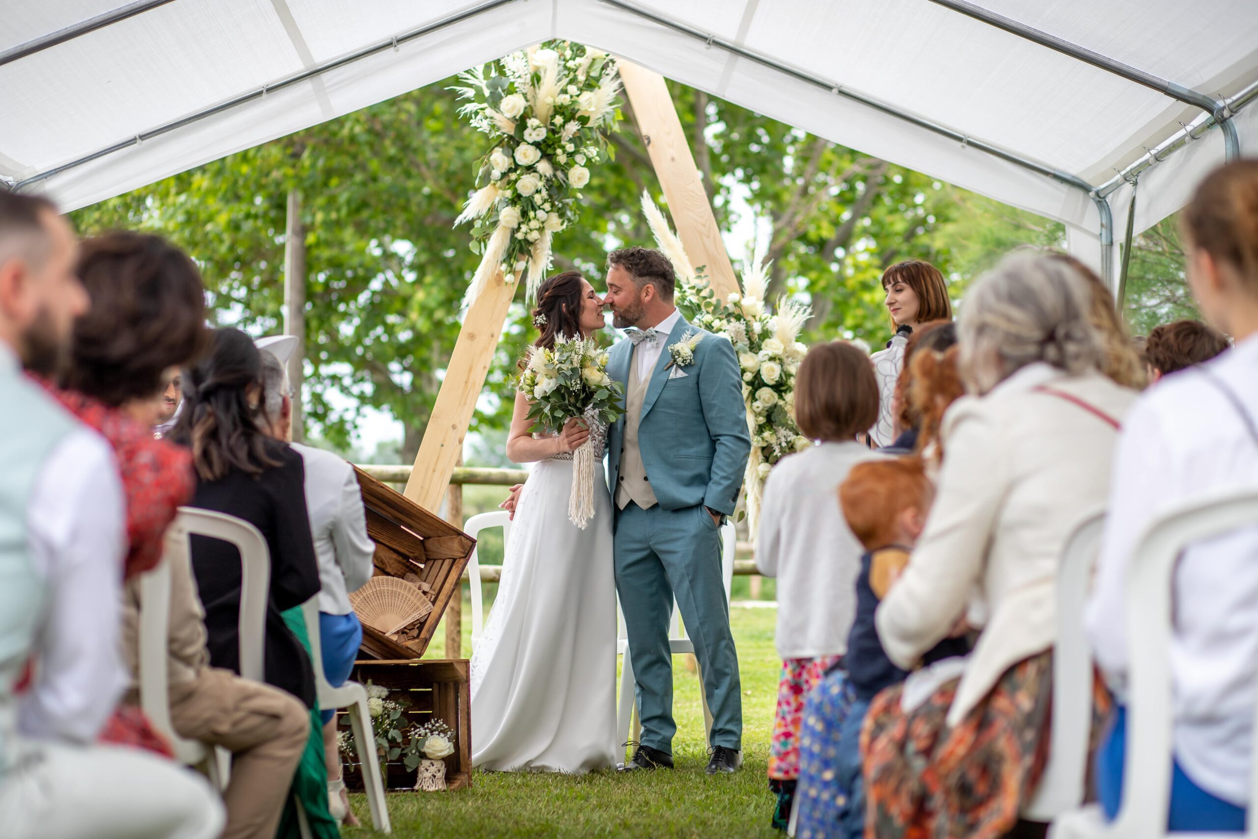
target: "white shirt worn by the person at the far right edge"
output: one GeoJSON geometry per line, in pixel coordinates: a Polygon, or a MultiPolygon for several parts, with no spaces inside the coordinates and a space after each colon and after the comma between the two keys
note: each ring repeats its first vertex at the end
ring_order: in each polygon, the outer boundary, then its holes
{"type": "MultiPolygon", "coordinates": [[[[1258,424],[1258,336],[1201,366],[1258,424]]],[[[1136,541],[1172,504],[1258,484],[1258,444],[1228,397],[1190,367],[1159,381],[1132,409],[1113,474],[1086,623],[1097,663],[1122,701],[1130,660],[1123,595],[1136,541]]],[[[1258,683],[1258,526],[1188,548],[1174,603],[1175,756],[1199,786],[1245,806],[1258,683]]]]}

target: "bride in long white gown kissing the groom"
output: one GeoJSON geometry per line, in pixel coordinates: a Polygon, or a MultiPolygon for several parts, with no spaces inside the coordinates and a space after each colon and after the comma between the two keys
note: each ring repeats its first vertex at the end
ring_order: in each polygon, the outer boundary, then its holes
{"type": "MultiPolygon", "coordinates": [[[[605,327],[603,301],[577,272],[545,281],[537,346],[605,327]]],[[[570,420],[532,434],[516,394],[507,457],[535,463],[516,503],[502,580],[472,655],[472,764],[487,770],[587,772],[615,766],[616,594],[611,498],[603,473],[606,429],[570,420]],[[594,518],[567,518],[572,452],[595,447],[594,518]]]]}

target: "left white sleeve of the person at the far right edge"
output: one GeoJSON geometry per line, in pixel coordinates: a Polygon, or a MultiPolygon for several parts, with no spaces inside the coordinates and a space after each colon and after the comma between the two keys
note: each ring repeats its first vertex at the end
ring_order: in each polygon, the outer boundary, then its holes
{"type": "Polygon", "coordinates": [[[1123,604],[1128,560],[1136,540],[1162,506],[1164,488],[1175,486],[1175,481],[1156,411],[1147,403],[1137,404],[1123,420],[1115,449],[1101,557],[1083,613],[1097,665],[1120,694],[1127,682],[1123,604]]]}

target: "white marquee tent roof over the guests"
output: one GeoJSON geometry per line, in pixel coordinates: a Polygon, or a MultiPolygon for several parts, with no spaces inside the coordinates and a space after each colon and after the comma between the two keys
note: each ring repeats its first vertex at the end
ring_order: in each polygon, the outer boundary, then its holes
{"type": "Polygon", "coordinates": [[[1138,231],[1225,133],[1258,155],[1258,0],[980,4],[0,0],[0,179],[83,206],[556,36],[1062,220],[1111,278],[1133,175],[1138,231]]]}

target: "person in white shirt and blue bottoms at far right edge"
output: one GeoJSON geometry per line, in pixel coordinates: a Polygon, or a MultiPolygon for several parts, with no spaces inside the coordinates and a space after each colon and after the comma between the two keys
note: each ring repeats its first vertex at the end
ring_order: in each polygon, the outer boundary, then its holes
{"type": "MultiPolygon", "coordinates": [[[[1161,381],[1123,423],[1096,590],[1084,615],[1097,664],[1120,706],[1096,766],[1110,818],[1122,791],[1123,706],[1128,698],[1138,702],[1127,688],[1131,644],[1140,640],[1128,642],[1123,623],[1132,551],[1166,509],[1258,482],[1258,161],[1211,172],[1183,219],[1189,288],[1201,313],[1237,343],[1161,381]]],[[[1250,804],[1258,684],[1258,526],[1191,545],[1172,585],[1167,829],[1240,833],[1250,804]]]]}

